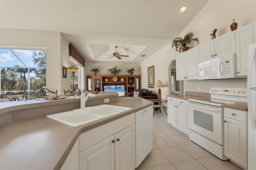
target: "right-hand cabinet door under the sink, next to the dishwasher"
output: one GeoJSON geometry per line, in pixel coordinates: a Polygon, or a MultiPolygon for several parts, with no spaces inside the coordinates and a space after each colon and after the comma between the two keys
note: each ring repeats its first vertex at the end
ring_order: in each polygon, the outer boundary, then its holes
{"type": "Polygon", "coordinates": [[[115,169],[134,170],[135,158],[135,125],[115,134],[115,169]]]}

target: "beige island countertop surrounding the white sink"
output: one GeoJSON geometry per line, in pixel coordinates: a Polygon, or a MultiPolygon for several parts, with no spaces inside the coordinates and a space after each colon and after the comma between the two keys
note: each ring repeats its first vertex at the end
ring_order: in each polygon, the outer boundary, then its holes
{"type": "MultiPolygon", "coordinates": [[[[80,99],[73,100],[80,103],[80,99]]],[[[48,101],[44,105],[51,102],[64,101],[48,101]]],[[[80,134],[153,105],[140,97],[122,97],[109,104],[132,109],[79,127],[70,127],[45,116],[1,127],[0,169],[60,169],[80,134]]],[[[22,105],[23,109],[25,107],[22,105]]],[[[12,107],[8,108],[10,111],[12,107]]],[[[0,111],[3,109],[6,108],[0,111]]]]}

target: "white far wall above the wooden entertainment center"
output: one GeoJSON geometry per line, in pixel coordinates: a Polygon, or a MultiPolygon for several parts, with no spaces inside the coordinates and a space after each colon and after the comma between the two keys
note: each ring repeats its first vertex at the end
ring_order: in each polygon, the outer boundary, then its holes
{"type": "Polygon", "coordinates": [[[121,63],[121,62],[86,62],[86,75],[94,75],[90,70],[94,67],[97,67],[100,70],[99,75],[110,75],[108,69],[117,65],[117,68],[120,68],[122,71],[120,75],[128,75],[126,72],[127,69],[135,67],[134,75],[140,75],[140,65],[139,63],[121,63]]]}

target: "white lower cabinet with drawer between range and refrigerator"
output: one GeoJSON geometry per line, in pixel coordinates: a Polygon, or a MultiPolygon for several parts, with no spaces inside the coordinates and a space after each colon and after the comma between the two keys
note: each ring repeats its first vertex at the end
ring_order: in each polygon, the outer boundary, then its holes
{"type": "Polygon", "coordinates": [[[247,112],[224,108],[224,155],[247,169],[247,112]]]}

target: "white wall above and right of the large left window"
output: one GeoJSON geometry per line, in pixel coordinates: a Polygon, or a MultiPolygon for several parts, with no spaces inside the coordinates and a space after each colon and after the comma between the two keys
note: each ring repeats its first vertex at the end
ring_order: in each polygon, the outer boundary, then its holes
{"type": "Polygon", "coordinates": [[[62,66],[67,65],[69,56],[64,50],[68,49],[68,45],[65,47],[67,41],[60,32],[0,28],[0,37],[0,45],[3,46],[46,47],[46,87],[63,94],[65,82],[70,79],[69,74],[66,79],[62,78],[62,66]]]}

